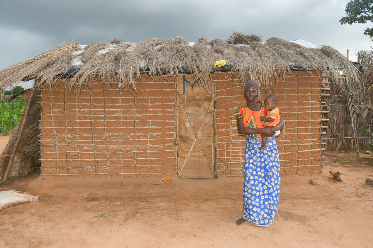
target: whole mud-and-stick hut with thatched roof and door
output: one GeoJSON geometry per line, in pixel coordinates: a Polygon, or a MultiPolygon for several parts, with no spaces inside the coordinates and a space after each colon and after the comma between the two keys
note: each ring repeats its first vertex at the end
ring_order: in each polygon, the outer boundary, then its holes
{"type": "Polygon", "coordinates": [[[33,112],[26,111],[0,161],[3,180],[30,171],[24,168],[35,158],[42,175],[59,178],[242,176],[245,137],[235,111],[245,104],[248,79],[261,95],[278,97],[286,123],[276,139],[282,175],[319,174],[322,97],[329,95],[322,75],[343,68],[357,80],[355,67],[333,48],[279,38],[263,43],[234,32],[225,41],[118,42],[69,42],[0,71],[1,88],[35,80],[33,112]],[[220,60],[226,64],[215,66],[220,60]],[[26,122],[34,129],[25,132],[26,122]],[[34,146],[22,148],[24,140],[34,146]]]}

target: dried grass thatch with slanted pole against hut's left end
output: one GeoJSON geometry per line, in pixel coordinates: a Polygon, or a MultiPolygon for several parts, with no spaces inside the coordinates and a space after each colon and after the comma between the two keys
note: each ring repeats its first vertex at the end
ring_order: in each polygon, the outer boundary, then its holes
{"type": "MultiPolygon", "coordinates": [[[[25,128],[22,133],[19,132],[20,124],[22,123],[23,118],[25,118],[25,116],[23,116],[10,136],[8,144],[1,153],[1,156],[11,155],[10,153],[15,145],[17,136],[21,136],[16,147],[16,152],[7,179],[28,175],[40,166],[40,144],[38,136],[40,120],[40,104],[38,102],[40,101],[38,100],[38,90],[35,90],[34,94],[28,97],[31,98],[31,101],[28,115],[26,117],[25,128]]],[[[0,158],[0,182],[8,165],[9,158],[10,156],[0,158]]]]}

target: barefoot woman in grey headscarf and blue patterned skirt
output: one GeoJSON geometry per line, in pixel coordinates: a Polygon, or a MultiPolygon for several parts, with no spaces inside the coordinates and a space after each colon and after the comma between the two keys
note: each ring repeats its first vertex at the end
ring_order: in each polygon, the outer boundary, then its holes
{"type": "Polygon", "coordinates": [[[277,214],[280,195],[280,165],[276,139],[273,135],[281,130],[284,121],[274,127],[265,127],[260,121],[264,115],[263,102],[256,101],[258,84],[250,80],[245,84],[244,96],[247,105],[237,109],[237,127],[246,134],[244,214],[236,221],[242,225],[246,220],[257,226],[269,226],[277,214]],[[267,148],[260,150],[261,135],[268,137],[267,148]]]}

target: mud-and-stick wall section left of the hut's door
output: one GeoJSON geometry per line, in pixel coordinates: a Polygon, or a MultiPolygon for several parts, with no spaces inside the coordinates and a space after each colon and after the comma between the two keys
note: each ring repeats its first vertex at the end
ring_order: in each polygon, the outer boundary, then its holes
{"type": "Polygon", "coordinates": [[[175,175],[175,87],[163,78],[137,82],[137,95],[102,82],[41,92],[44,175],[175,175]]]}

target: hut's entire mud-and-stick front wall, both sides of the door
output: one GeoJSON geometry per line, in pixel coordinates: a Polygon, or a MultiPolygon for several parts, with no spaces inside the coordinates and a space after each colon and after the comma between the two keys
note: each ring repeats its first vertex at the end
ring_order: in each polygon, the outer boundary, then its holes
{"type": "MultiPolygon", "coordinates": [[[[245,136],[238,135],[235,112],[245,105],[238,73],[214,73],[213,123],[218,177],[242,176],[245,136]]],[[[93,82],[67,88],[69,79],[41,90],[41,174],[171,177],[177,171],[177,92],[182,79],[169,83],[142,77],[137,95],[93,82]]],[[[320,77],[304,70],[278,77],[278,97],[285,127],[276,138],[282,175],[319,174],[322,169],[320,77]]]]}

